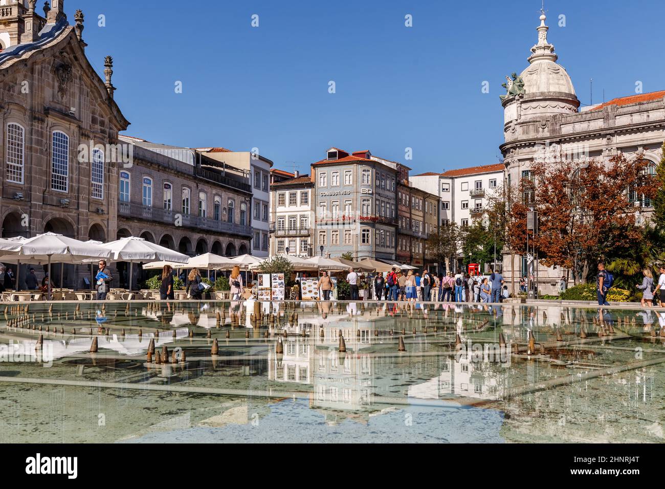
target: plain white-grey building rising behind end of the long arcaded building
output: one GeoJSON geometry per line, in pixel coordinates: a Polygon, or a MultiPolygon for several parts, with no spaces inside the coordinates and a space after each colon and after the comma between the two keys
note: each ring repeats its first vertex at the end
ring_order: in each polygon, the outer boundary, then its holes
{"type": "Polygon", "coordinates": [[[251,254],[259,258],[267,257],[270,236],[270,169],[273,162],[257,152],[231,151],[219,147],[197,148],[197,150],[213,160],[249,172],[252,188],[251,254]]]}

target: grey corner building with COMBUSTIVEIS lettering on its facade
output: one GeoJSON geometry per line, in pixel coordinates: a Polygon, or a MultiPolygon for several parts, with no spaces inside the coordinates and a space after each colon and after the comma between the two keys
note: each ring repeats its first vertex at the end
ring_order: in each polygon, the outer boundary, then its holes
{"type": "Polygon", "coordinates": [[[330,148],[311,165],[316,189],[315,249],[332,257],[394,259],[397,170],[368,150],[330,148]]]}

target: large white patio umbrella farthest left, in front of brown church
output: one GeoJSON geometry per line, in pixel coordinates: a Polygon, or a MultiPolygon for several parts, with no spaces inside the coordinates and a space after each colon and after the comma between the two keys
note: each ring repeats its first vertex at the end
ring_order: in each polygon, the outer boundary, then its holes
{"type": "MultiPolygon", "coordinates": [[[[80,265],[90,259],[108,258],[110,254],[108,249],[104,249],[101,245],[74,240],[74,238],[67,238],[56,233],[38,234],[34,238],[28,238],[17,243],[18,246],[15,250],[0,256],[0,261],[18,264],[31,263],[33,265],[48,263],[49,298],[51,297],[51,289],[53,289],[51,262],[80,265]],[[13,251],[18,251],[18,253],[13,253],[13,251]]],[[[17,276],[17,282],[18,279],[17,276]]]]}

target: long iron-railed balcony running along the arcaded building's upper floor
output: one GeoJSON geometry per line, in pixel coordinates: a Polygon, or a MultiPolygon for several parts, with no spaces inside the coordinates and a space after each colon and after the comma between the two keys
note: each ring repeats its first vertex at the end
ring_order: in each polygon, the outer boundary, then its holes
{"type": "Polygon", "coordinates": [[[170,226],[176,226],[176,216],[180,216],[182,220],[180,226],[186,228],[236,234],[239,236],[252,236],[252,228],[250,226],[201,218],[199,216],[192,216],[192,214],[182,214],[174,210],[160,209],[158,207],[143,206],[136,204],[136,202],[118,202],[118,216],[156,221],[170,226]]]}

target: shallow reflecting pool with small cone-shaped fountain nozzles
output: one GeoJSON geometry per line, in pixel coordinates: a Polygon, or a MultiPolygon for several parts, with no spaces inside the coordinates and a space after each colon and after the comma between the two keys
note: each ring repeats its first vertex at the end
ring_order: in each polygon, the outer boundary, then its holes
{"type": "Polygon", "coordinates": [[[559,305],[9,303],[0,442],[662,442],[664,328],[559,305]]]}

